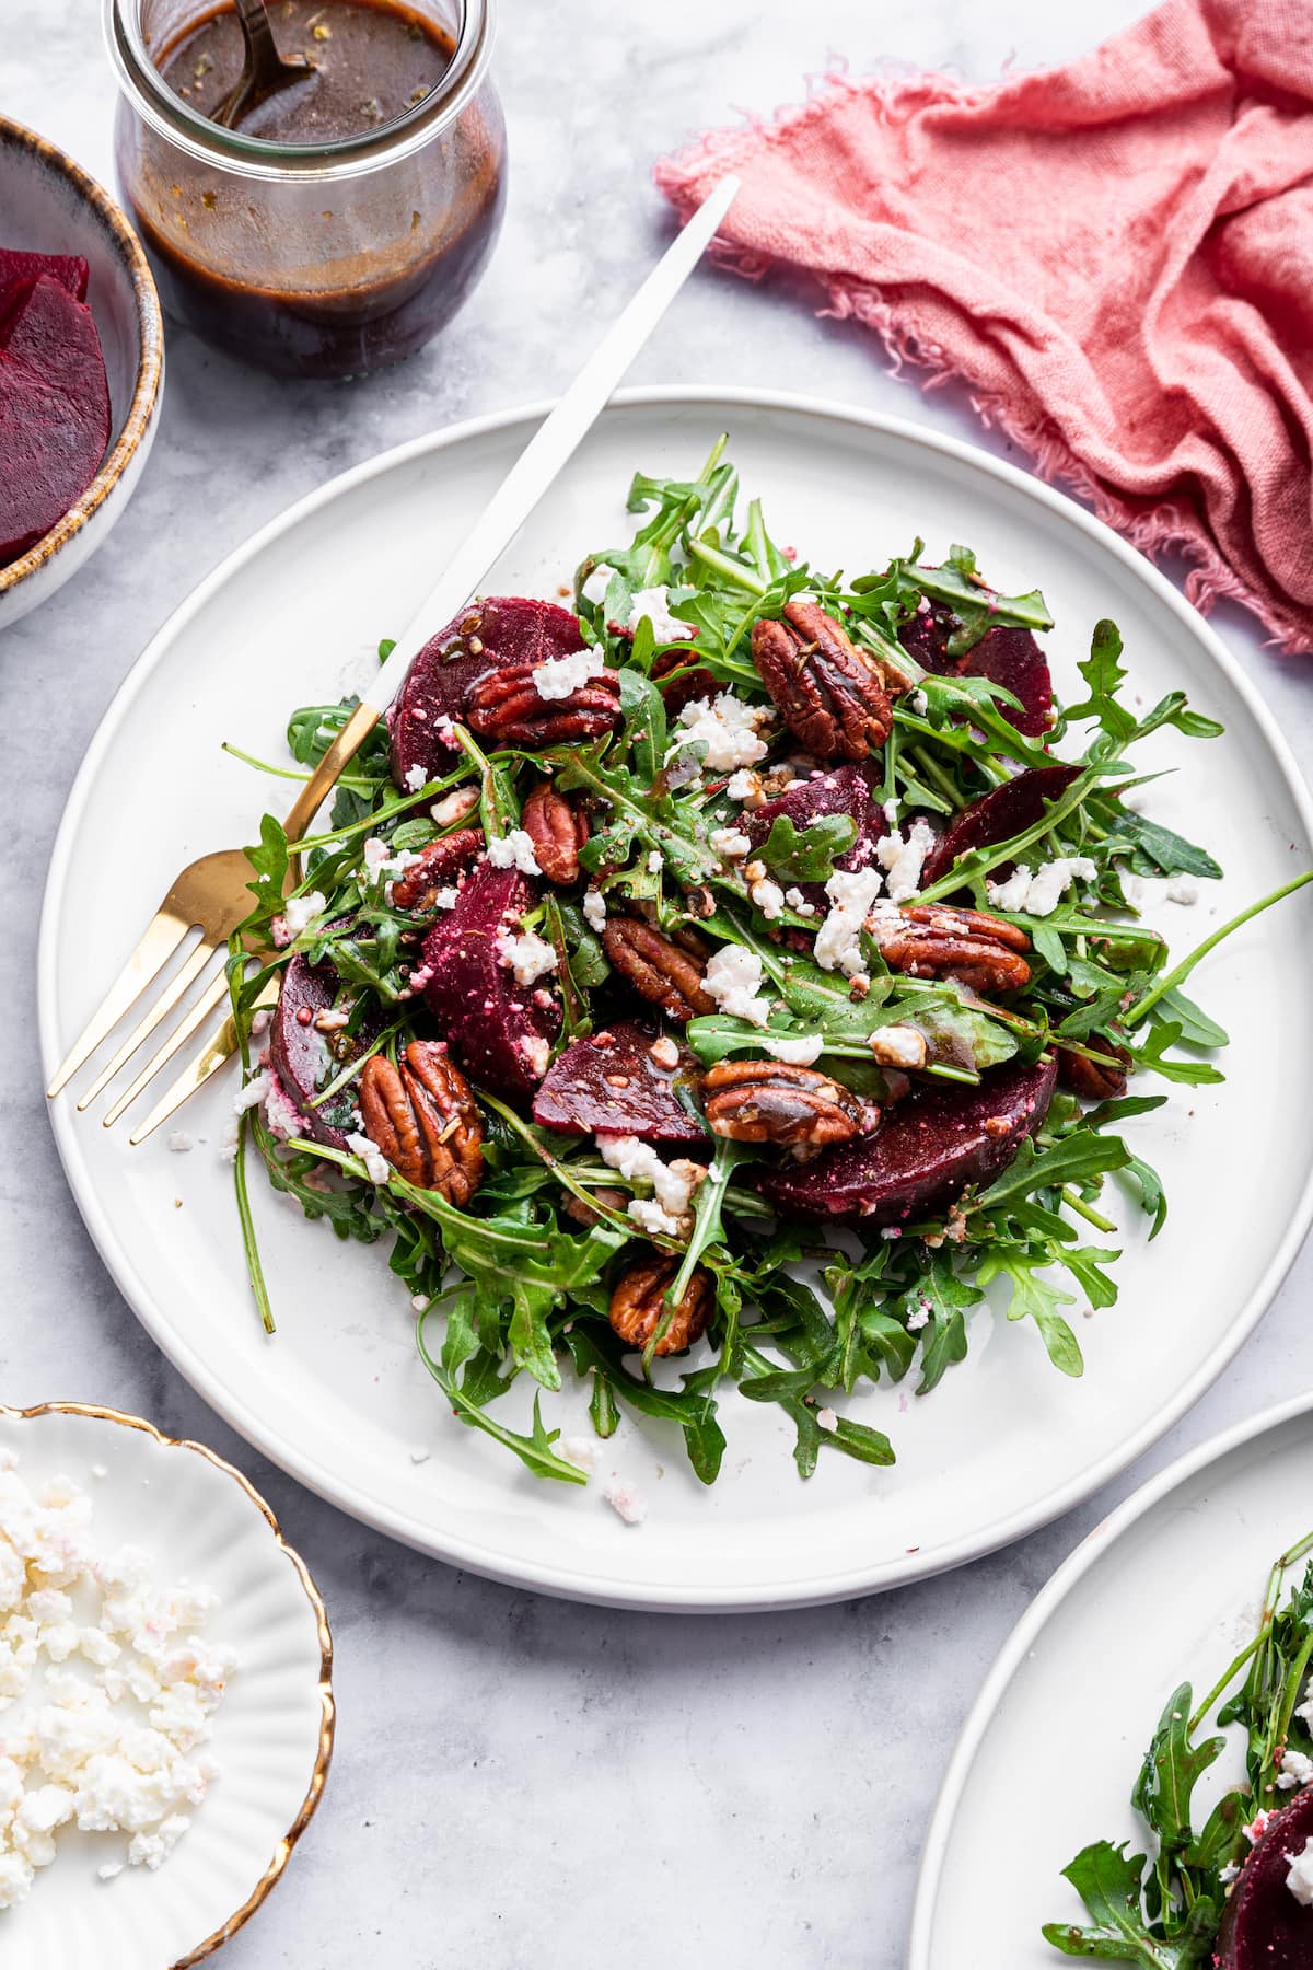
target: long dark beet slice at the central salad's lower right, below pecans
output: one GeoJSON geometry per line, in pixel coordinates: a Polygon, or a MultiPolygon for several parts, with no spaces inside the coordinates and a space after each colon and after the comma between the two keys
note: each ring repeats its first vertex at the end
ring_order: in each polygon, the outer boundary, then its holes
{"type": "Polygon", "coordinates": [[[760,1188],[782,1217],[923,1217],[1012,1162],[1047,1115],[1055,1078],[1047,1054],[1033,1068],[1000,1068],[978,1087],[919,1082],[876,1135],[768,1170],[760,1188]]]}

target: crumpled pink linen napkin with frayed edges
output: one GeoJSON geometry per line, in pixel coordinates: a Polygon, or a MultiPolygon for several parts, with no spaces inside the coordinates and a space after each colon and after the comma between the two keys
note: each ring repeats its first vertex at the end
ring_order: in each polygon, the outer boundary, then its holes
{"type": "Polygon", "coordinates": [[[1167,0],[986,89],[829,77],[665,158],[724,171],[724,258],[811,270],[927,386],[963,380],[1045,479],[1313,650],[1313,6],[1167,0]]]}

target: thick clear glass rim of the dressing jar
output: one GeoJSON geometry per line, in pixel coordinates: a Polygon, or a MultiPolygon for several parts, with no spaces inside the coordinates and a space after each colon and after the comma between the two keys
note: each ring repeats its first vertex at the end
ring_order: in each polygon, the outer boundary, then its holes
{"type": "Polygon", "coordinates": [[[447,130],[480,89],[492,55],[494,0],[455,0],[455,53],[429,95],[360,136],[329,144],[274,144],[211,122],[183,102],[150,57],[138,0],[104,0],[104,41],[118,87],[138,116],[197,164],[262,179],[341,179],[384,169],[447,130]]]}

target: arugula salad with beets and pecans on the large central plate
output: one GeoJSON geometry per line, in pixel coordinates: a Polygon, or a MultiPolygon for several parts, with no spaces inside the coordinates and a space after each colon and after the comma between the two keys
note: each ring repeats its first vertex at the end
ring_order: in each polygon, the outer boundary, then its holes
{"type": "MultiPolygon", "coordinates": [[[[640,473],[628,504],[640,516],[632,540],[583,559],[573,613],[502,605],[504,621],[537,611],[559,638],[565,621],[581,658],[547,664],[547,697],[524,666],[506,672],[528,691],[539,741],[506,737],[506,703],[472,688],[469,715],[439,721],[419,764],[400,770],[402,725],[380,725],[307,839],[262,821],[254,906],[228,967],[250,1076],[236,1194],[254,1296],[272,1330],[248,1149],[309,1219],[384,1247],[455,1416],[543,1478],[583,1481],[541,1409],[567,1375],[587,1385],[600,1436],[624,1409],[671,1422],[707,1483],[724,1456],[726,1385],[785,1412],[803,1478],[821,1452],[890,1464],[888,1438],[844,1414],[844,1399],[909,1375],[917,1395],[935,1389],[967,1355],[970,1310],[990,1286],[1012,1322],[1035,1326],[1063,1375],[1081,1373],[1069,1316],[1118,1292],[1104,1186],[1114,1180],[1150,1235],[1167,1215],[1163,1186],[1122,1125],[1171,1089],[1222,1078],[1213,1054],[1226,1034],[1187,979],[1220,938],[1307,877],[1177,957],[1146,924],[1142,888],[1209,883],[1220,869],[1142,808],[1156,770],[1140,753],[1165,727],[1203,743],[1220,727],[1179,690],[1148,709],[1128,697],[1112,623],[1094,626],[1077,699],[1059,705],[1032,634],[1051,626],[1043,597],[994,593],[965,548],[941,565],[927,565],[917,542],[876,573],[821,571],[772,540],[758,500],[740,508],[724,441],[695,479],[640,473]],[[819,644],[789,628],[817,623],[817,611],[819,644]],[[766,664],[772,636],[785,662],[768,684],[758,656],[766,664]],[[604,729],[567,729],[581,693],[600,703],[589,717],[604,729]],[[839,717],[852,703],[866,719],[860,760],[852,721],[839,717]],[[1053,778],[1055,766],[1067,770],[1053,778]],[[839,768],[860,820],[817,812],[817,790],[833,790],[839,768]],[[1041,772],[1049,778],[1030,778],[1041,772]],[[524,810],[541,782],[587,833],[579,875],[563,885],[526,855],[524,810]],[[470,827],[482,831],[476,861],[402,906],[400,873],[470,827]],[[526,952],[543,959],[528,983],[498,973],[518,993],[514,1018],[537,1018],[547,1034],[541,1087],[563,1080],[567,1050],[646,1022],[654,1058],[681,1062],[679,1101],[697,1139],[673,1158],[685,1198],[677,1186],[671,1196],[665,1172],[654,1178],[652,1154],[669,1156],[632,1127],[618,1091],[606,1131],[547,1127],[533,1115],[541,1089],[496,1085],[470,1066],[484,1058],[474,1028],[502,985],[488,999],[480,985],[455,1013],[437,1001],[455,963],[443,938],[472,888],[502,871],[522,881],[506,950],[516,965],[526,952]],[[671,965],[669,948],[693,953],[695,1017],[671,1017],[636,983],[632,952],[618,965],[616,924],[630,944],[656,932],[671,965]],[[961,955],[963,940],[980,938],[986,985],[961,955]],[[289,1085],[278,1022],[291,1017],[293,977],[299,993],[311,971],[319,999],[297,1017],[313,1017],[325,1042],[321,1070],[289,1085]],[[1012,983],[990,991],[1004,971],[1012,983]],[[274,1062],[262,1066],[270,1013],[274,1062]],[[463,1204],[441,1182],[413,1182],[362,1133],[362,1076],[400,1072],[417,1040],[449,1040],[447,1058],[472,1084],[482,1160],[463,1204]],[[776,1109],[801,1103],[801,1135],[778,1133],[776,1111],[764,1123],[758,1109],[724,1127],[707,1121],[709,1089],[734,1066],[764,1078],[776,1109]],[[1126,1076],[1156,1091],[1126,1093],[1126,1076]],[[819,1125],[807,1135],[805,1117],[821,1107],[850,1131],[860,1115],[858,1133],[817,1147],[819,1125]],[[754,1127],[766,1137],[744,1139],[754,1127]],[[953,1147],[963,1133],[974,1143],[965,1158],[953,1147]],[[648,1154],[618,1154],[616,1135],[648,1154]],[[844,1208],[833,1210],[841,1194],[844,1208]],[[616,1292],[657,1257],[669,1261],[659,1318],[632,1346],[616,1292]],[[671,1338],[689,1330],[679,1308],[693,1300],[693,1328],[705,1332],[669,1361],[671,1338]],[[498,1409],[526,1377],[531,1426],[518,1430],[498,1409]]],[[[431,648],[459,648],[467,668],[470,652],[504,660],[470,634],[484,623],[478,607],[492,623],[492,605],[476,605],[431,648]]],[[[307,774],[352,705],[293,711],[295,768],[266,770],[307,774]]],[[[506,926],[482,932],[500,938],[506,926]]]]}

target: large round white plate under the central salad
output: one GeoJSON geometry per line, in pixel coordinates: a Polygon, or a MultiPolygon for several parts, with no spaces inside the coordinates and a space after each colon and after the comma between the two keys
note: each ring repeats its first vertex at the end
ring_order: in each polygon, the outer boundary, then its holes
{"type": "MultiPolygon", "coordinates": [[[[250,841],[262,806],[285,806],[281,782],[222,756],[219,741],[283,758],[287,709],[335,699],[368,674],[378,638],[406,623],[535,416],[465,426],[346,473],[232,556],[161,630],[87,755],[55,847],[39,961],[47,1066],[175,867],[250,841]]],[[[1207,747],[1175,733],[1152,741],[1154,764],[1189,768],[1159,782],[1156,812],[1205,835],[1228,871],[1197,908],[1167,906],[1177,946],[1309,863],[1295,768],[1199,617],[1077,506],[913,426],[787,398],[632,394],[596,426],[488,591],[555,595],[583,552],[628,540],[632,471],[689,475],[720,429],[782,542],[848,569],[878,565],[915,534],[931,556],[970,542],[1002,587],[1043,585],[1067,693],[1093,623],[1112,615],[1146,701],[1185,684],[1224,719],[1226,739],[1207,747]]],[[[230,1172],[215,1156],[230,1085],[193,1103],[187,1127],[205,1143],[185,1156],[161,1141],[132,1150],[67,1101],[55,1135],[91,1233],[159,1346],[238,1430],[346,1511],[461,1566],[587,1600],[819,1602],[955,1566],[1055,1517],[1175,1422],[1230,1359],[1309,1219],[1313,1111],[1278,1101],[1270,1034],[1282,1032],[1283,1084],[1309,1085],[1313,1026],[1295,953],[1311,934],[1305,890],[1199,975],[1199,995],[1234,1034],[1230,1080],[1134,1125],[1163,1168],[1173,1215],[1148,1249],[1138,1212],[1126,1212],[1120,1304],[1077,1320],[1083,1383],[1049,1367],[1033,1332],[994,1332],[982,1312],[970,1361],[933,1399],[880,1389],[848,1405],[892,1434],[894,1472],[827,1456],[801,1483],[789,1424],[730,1397],[724,1474],[705,1491],[679,1442],[626,1422],[602,1470],[646,1493],[642,1529],[624,1527],[596,1483],[535,1481],[455,1426],[415,1357],[384,1255],[339,1245],[256,1184],[280,1318],[278,1338],[264,1340],[230,1172]],[[1258,1156],[1236,1154],[1260,1145],[1262,1172],[1258,1156]],[[1228,1223],[1244,1237],[1219,1237],[1228,1223]]],[[[575,1397],[549,1409],[579,1424],[575,1397]]]]}

